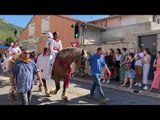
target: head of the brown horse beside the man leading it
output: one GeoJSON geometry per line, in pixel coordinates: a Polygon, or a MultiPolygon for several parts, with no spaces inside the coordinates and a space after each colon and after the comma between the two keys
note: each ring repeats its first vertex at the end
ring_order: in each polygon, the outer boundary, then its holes
{"type": "Polygon", "coordinates": [[[88,57],[87,51],[82,49],[80,57],[75,60],[75,63],[78,66],[78,69],[80,69],[82,65],[85,65],[87,57],[88,57]]]}

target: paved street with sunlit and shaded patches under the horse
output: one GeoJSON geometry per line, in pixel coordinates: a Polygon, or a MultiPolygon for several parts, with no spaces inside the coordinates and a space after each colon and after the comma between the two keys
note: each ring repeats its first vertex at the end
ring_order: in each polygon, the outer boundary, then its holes
{"type": "MultiPolygon", "coordinates": [[[[85,81],[85,80],[84,80],[85,81]]],[[[9,80],[0,77],[0,105],[10,105],[8,100],[9,80]]],[[[51,89],[54,82],[48,81],[49,88],[51,89]]],[[[46,97],[43,92],[38,91],[38,86],[34,86],[33,97],[31,105],[102,105],[99,101],[99,94],[96,92],[96,99],[88,99],[91,83],[81,82],[72,79],[70,81],[69,89],[67,89],[67,95],[70,99],[69,102],[61,100],[61,89],[57,95],[46,97]]],[[[160,105],[160,98],[149,97],[140,95],[133,92],[127,92],[124,90],[112,89],[109,87],[103,87],[103,90],[110,101],[103,105],[160,105]]]]}

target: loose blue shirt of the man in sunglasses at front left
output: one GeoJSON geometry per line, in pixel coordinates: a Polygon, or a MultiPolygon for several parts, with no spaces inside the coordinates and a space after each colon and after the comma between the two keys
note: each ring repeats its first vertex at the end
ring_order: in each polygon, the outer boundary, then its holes
{"type": "Polygon", "coordinates": [[[34,74],[38,72],[36,64],[31,60],[29,63],[16,61],[12,73],[16,80],[16,87],[19,93],[31,91],[34,83],[34,74]]]}

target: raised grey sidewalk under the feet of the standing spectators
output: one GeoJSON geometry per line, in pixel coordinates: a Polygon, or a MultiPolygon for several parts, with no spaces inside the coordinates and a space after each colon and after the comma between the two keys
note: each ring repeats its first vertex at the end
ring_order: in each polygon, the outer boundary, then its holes
{"type": "MultiPolygon", "coordinates": [[[[71,77],[71,79],[75,80],[75,81],[85,82],[88,84],[92,84],[92,81],[93,81],[93,78],[88,77],[88,76],[84,77],[84,78],[71,77]]],[[[116,82],[116,81],[111,81],[109,84],[102,83],[102,86],[106,87],[106,88],[112,88],[112,89],[116,89],[116,90],[130,92],[130,93],[134,93],[134,94],[138,94],[138,95],[145,95],[145,96],[160,98],[160,94],[158,94],[158,93],[145,91],[142,89],[142,87],[141,88],[133,87],[133,89],[129,89],[128,87],[121,87],[119,82],[116,82]]]]}

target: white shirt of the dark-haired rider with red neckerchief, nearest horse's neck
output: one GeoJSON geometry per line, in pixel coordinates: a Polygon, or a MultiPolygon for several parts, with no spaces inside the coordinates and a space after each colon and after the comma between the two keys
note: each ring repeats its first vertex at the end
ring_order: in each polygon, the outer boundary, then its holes
{"type": "Polygon", "coordinates": [[[62,42],[61,42],[61,40],[55,41],[55,40],[53,39],[53,40],[51,41],[51,43],[50,43],[51,51],[52,51],[53,53],[58,53],[58,51],[54,49],[55,47],[56,47],[56,48],[59,48],[59,51],[62,50],[62,42]]]}

